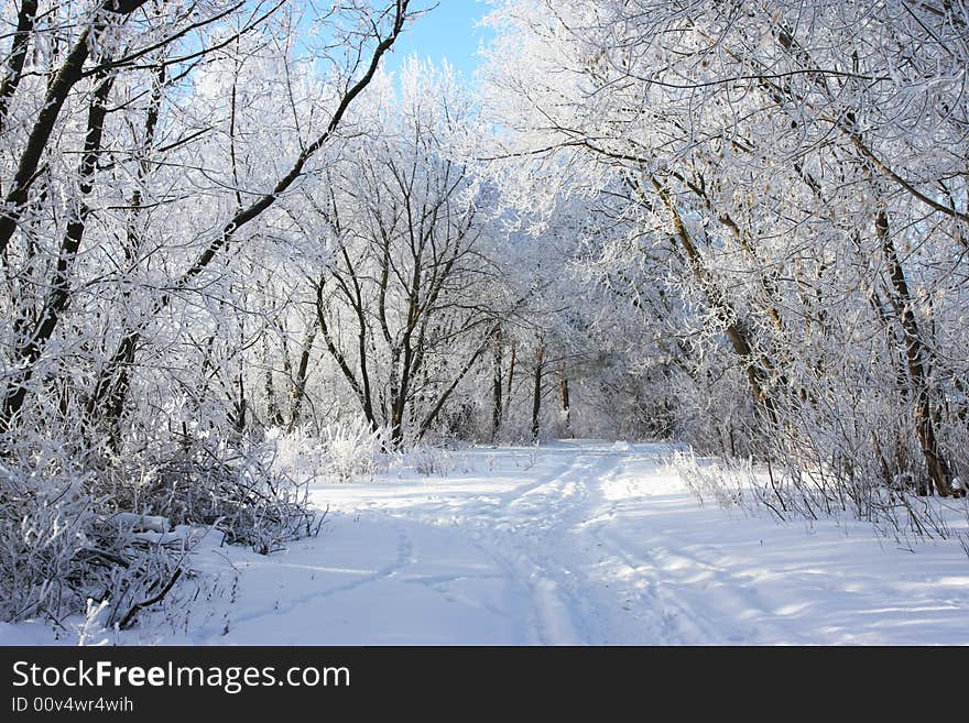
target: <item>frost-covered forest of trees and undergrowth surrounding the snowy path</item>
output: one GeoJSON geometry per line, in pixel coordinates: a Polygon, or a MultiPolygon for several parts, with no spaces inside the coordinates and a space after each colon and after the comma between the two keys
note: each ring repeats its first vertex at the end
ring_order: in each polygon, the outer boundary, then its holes
{"type": "Polygon", "coordinates": [[[166,535],[314,535],[294,447],[663,440],[945,534],[969,4],[489,0],[473,83],[388,72],[434,12],[3,3],[0,620],[126,628],[166,535]]]}

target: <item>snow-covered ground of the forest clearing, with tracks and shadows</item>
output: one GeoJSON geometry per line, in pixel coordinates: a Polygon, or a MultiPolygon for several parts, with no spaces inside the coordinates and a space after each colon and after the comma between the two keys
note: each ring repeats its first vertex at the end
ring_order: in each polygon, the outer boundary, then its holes
{"type": "MultiPolygon", "coordinates": [[[[170,610],[111,639],[969,644],[969,559],[957,541],[912,551],[862,523],[782,525],[701,506],[671,453],[594,441],[479,448],[450,452],[444,475],[317,485],[329,505],[319,537],[269,557],[204,552],[190,617],[170,610]]],[[[0,642],[54,640],[21,624],[0,626],[0,642]]]]}

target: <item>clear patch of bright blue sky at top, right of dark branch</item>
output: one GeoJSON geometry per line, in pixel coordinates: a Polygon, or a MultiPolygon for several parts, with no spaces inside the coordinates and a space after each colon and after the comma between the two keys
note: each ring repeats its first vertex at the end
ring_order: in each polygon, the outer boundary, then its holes
{"type": "MultiPolygon", "coordinates": [[[[433,6],[435,0],[421,0],[418,8],[433,6]]],[[[398,70],[403,58],[416,54],[435,63],[447,59],[470,80],[479,59],[478,46],[487,42],[491,31],[475,28],[489,10],[479,0],[437,0],[437,8],[418,18],[407,28],[386,57],[386,69],[398,70]]]]}

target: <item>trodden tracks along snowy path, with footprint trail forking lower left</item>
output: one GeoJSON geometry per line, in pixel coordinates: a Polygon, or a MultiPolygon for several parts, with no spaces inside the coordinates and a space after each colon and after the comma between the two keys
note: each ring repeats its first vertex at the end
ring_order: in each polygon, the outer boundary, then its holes
{"type": "MultiPolygon", "coordinates": [[[[494,562],[511,593],[510,607],[486,601],[476,604],[507,620],[525,622],[527,627],[520,633],[523,643],[709,645],[754,637],[753,623],[741,623],[723,610],[725,604],[733,613],[753,607],[755,598],[738,592],[743,581],[689,555],[675,539],[665,540],[663,530],[644,528],[644,538],[628,539],[621,517],[650,505],[650,495],[639,488],[656,471],[643,464],[642,456],[581,446],[543,452],[546,463],[558,462],[555,458],[562,463],[551,464],[537,480],[503,494],[467,499],[458,515],[446,497],[437,495],[434,504],[417,508],[371,508],[370,514],[386,519],[396,533],[393,561],[342,584],[286,599],[282,606],[264,605],[230,616],[230,624],[291,614],[303,605],[391,579],[425,587],[446,600],[451,600],[448,584],[454,581],[496,579],[493,572],[409,577],[406,568],[421,556],[407,527],[432,522],[445,538],[455,535],[467,540],[470,534],[472,546],[494,562]],[[632,475],[639,481],[631,479],[621,499],[607,500],[608,484],[632,475]],[[709,578],[716,588],[709,600],[696,599],[698,577],[709,578]]],[[[649,460],[658,467],[662,457],[649,460]]],[[[769,615],[756,617],[760,625],[769,615]]],[[[782,633],[771,631],[770,635],[790,638],[782,633]]]]}

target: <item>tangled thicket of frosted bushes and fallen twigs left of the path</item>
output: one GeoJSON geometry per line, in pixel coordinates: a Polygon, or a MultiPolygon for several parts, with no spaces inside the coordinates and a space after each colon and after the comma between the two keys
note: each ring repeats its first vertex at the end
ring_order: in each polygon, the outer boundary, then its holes
{"type": "Polygon", "coordinates": [[[207,532],[270,554],[322,522],[306,483],[273,472],[260,446],[11,445],[0,457],[0,620],[59,624],[97,609],[99,625],[129,627],[148,607],[181,604],[176,583],[207,532]]]}

